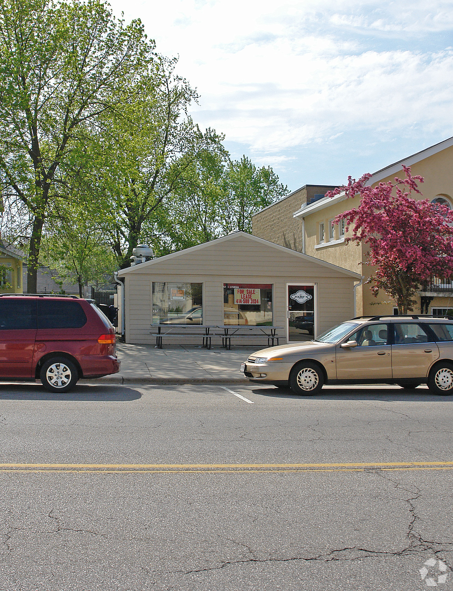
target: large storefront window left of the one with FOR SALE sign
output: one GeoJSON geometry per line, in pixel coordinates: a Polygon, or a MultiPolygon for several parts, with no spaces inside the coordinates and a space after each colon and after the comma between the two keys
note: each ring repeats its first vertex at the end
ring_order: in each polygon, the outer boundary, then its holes
{"type": "Polygon", "coordinates": [[[153,324],[203,324],[203,283],[153,282],[153,324]]]}

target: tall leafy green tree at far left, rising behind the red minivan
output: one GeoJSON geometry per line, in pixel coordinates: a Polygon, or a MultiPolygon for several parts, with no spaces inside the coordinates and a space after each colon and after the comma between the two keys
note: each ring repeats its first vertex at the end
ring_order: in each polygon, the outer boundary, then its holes
{"type": "Polygon", "coordinates": [[[122,111],[153,52],[139,21],[125,26],[98,0],[1,2],[0,168],[6,199],[28,217],[30,292],[50,204],[83,167],[97,119],[122,111]]]}

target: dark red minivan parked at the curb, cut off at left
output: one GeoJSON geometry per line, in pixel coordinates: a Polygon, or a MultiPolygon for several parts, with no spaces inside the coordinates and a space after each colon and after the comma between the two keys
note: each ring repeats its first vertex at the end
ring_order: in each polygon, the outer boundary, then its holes
{"type": "Polygon", "coordinates": [[[0,380],[40,378],[67,392],[80,378],[116,374],[115,329],[76,296],[0,294],[0,380]]]}

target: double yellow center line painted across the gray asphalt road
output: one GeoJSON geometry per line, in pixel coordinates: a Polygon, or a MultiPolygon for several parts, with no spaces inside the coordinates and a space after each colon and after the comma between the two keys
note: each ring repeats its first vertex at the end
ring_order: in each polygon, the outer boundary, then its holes
{"type": "Polygon", "coordinates": [[[19,464],[0,463],[0,472],[113,474],[367,472],[371,470],[452,470],[453,462],[360,462],[338,464],[19,464]]]}

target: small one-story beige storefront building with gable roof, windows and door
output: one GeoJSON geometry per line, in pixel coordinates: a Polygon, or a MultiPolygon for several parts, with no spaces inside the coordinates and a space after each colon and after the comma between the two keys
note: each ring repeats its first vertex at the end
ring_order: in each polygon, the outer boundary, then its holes
{"type": "MultiPolygon", "coordinates": [[[[353,317],[360,275],[234,232],[122,269],[118,280],[124,286],[126,342],[152,344],[159,326],[191,323],[276,326],[285,343],[312,339],[353,317]]],[[[166,342],[184,344],[186,337],[166,342]]],[[[213,345],[220,343],[220,337],[213,339],[213,345]]],[[[267,340],[247,342],[255,344],[267,346],[267,340]]]]}

